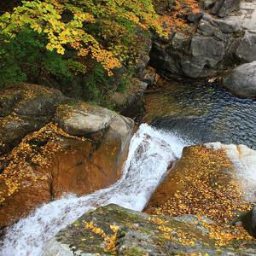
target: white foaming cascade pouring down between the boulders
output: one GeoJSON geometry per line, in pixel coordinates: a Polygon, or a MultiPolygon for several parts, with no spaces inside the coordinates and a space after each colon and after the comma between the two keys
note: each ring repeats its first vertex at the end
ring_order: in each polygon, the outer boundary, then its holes
{"type": "Polygon", "coordinates": [[[41,255],[47,241],[59,230],[98,206],[114,203],[142,211],[168,165],[181,156],[184,146],[183,140],[174,134],[141,125],[131,139],[123,175],[117,183],[90,195],[69,195],[38,207],[8,230],[0,255],[41,255]]]}

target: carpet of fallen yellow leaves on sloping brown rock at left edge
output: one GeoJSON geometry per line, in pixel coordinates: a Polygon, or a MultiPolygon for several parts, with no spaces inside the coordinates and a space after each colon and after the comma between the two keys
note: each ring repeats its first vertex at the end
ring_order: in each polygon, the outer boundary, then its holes
{"type": "Polygon", "coordinates": [[[18,189],[38,180],[49,178],[44,173],[38,172],[34,166],[44,170],[51,165],[55,154],[62,150],[61,143],[58,141],[60,136],[72,137],[56,125],[49,123],[39,131],[24,137],[17,147],[0,158],[0,162],[8,163],[0,175],[0,203],[3,203],[18,189]],[[33,141],[45,141],[47,143],[39,148],[33,146],[33,141]]]}

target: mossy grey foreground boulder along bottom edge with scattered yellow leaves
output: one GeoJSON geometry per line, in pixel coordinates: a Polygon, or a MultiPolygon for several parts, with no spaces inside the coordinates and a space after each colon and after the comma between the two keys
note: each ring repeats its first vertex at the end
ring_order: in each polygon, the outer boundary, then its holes
{"type": "Polygon", "coordinates": [[[61,230],[43,255],[254,255],[254,242],[245,230],[208,218],[156,217],[109,205],[61,230]]]}

